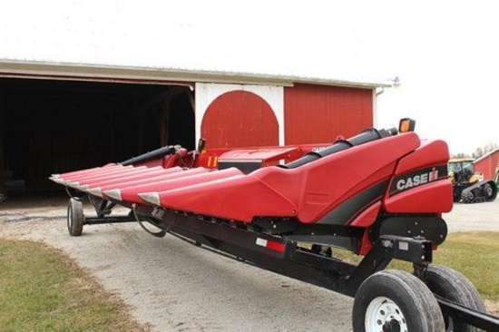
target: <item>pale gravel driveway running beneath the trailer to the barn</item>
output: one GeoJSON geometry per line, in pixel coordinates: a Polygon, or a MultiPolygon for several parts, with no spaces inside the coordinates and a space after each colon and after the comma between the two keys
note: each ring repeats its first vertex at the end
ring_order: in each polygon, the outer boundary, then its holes
{"type": "MultiPolygon", "coordinates": [[[[200,249],[135,223],[70,237],[67,199],[5,200],[0,237],[41,240],[91,269],[153,331],[351,331],[353,299],[200,249]]],[[[92,214],[88,206],[85,212],[92,214]]],[[[455,204],[449,231],[499,231],[499,200],[455,204]]]]}

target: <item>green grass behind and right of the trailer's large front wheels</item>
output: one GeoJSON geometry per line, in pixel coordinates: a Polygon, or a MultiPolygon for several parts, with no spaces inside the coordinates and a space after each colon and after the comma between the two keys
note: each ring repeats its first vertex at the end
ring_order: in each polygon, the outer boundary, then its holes
{"type": "MultiPolygon", "coordinates": [[[[335,256],[353,263],[362,259],[344,249],[335,256]]],[[[499,302],[499,232],[456,232],[433,252],[433,263],[461,272],[484,299],[499,302]]],[[[387,269],[412,272],[412,264],[393,260],[387,269]]]]}

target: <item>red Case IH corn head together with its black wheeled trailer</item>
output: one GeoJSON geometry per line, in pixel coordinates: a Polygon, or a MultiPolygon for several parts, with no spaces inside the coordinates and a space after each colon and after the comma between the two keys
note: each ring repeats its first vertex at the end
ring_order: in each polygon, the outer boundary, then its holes
{"type": "Polygon", "coordinates": [[[71,196],[69,233],[139,222],[354,297],[354,331],[499,330],[470,281],[432,264],[447,235],[442,213],[453,208],[449,154],[445,142],[419,139],[410,119],[329,145],[200,145],[54,174],[71,196]],[[96,216],[83,215],[85,197],[96,216]],[[116,205],[130,213],[113,216],[116,205]],[[338,248],[362,260],[339,259],[338,248]],[[413,273],[386,269],[392,259],[413,273]]]}

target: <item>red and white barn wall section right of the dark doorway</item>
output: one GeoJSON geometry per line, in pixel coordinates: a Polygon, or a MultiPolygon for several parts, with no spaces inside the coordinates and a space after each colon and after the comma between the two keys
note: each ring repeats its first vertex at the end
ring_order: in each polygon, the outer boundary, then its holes
{"type": "Polygon", "coordinates": [[[196,83],[197,137],[207,147],[333,142],[373,126],[376,85],[196,83]]]}

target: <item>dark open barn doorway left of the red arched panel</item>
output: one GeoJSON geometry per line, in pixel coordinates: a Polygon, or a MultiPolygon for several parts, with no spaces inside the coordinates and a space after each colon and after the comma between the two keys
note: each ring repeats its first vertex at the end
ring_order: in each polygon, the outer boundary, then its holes
{"type": "Polygon", "coordinates": [[[188,84],[0,78],[0,194],[61,190],[53,173],[168,144],[194,149],[188,84]]]}

